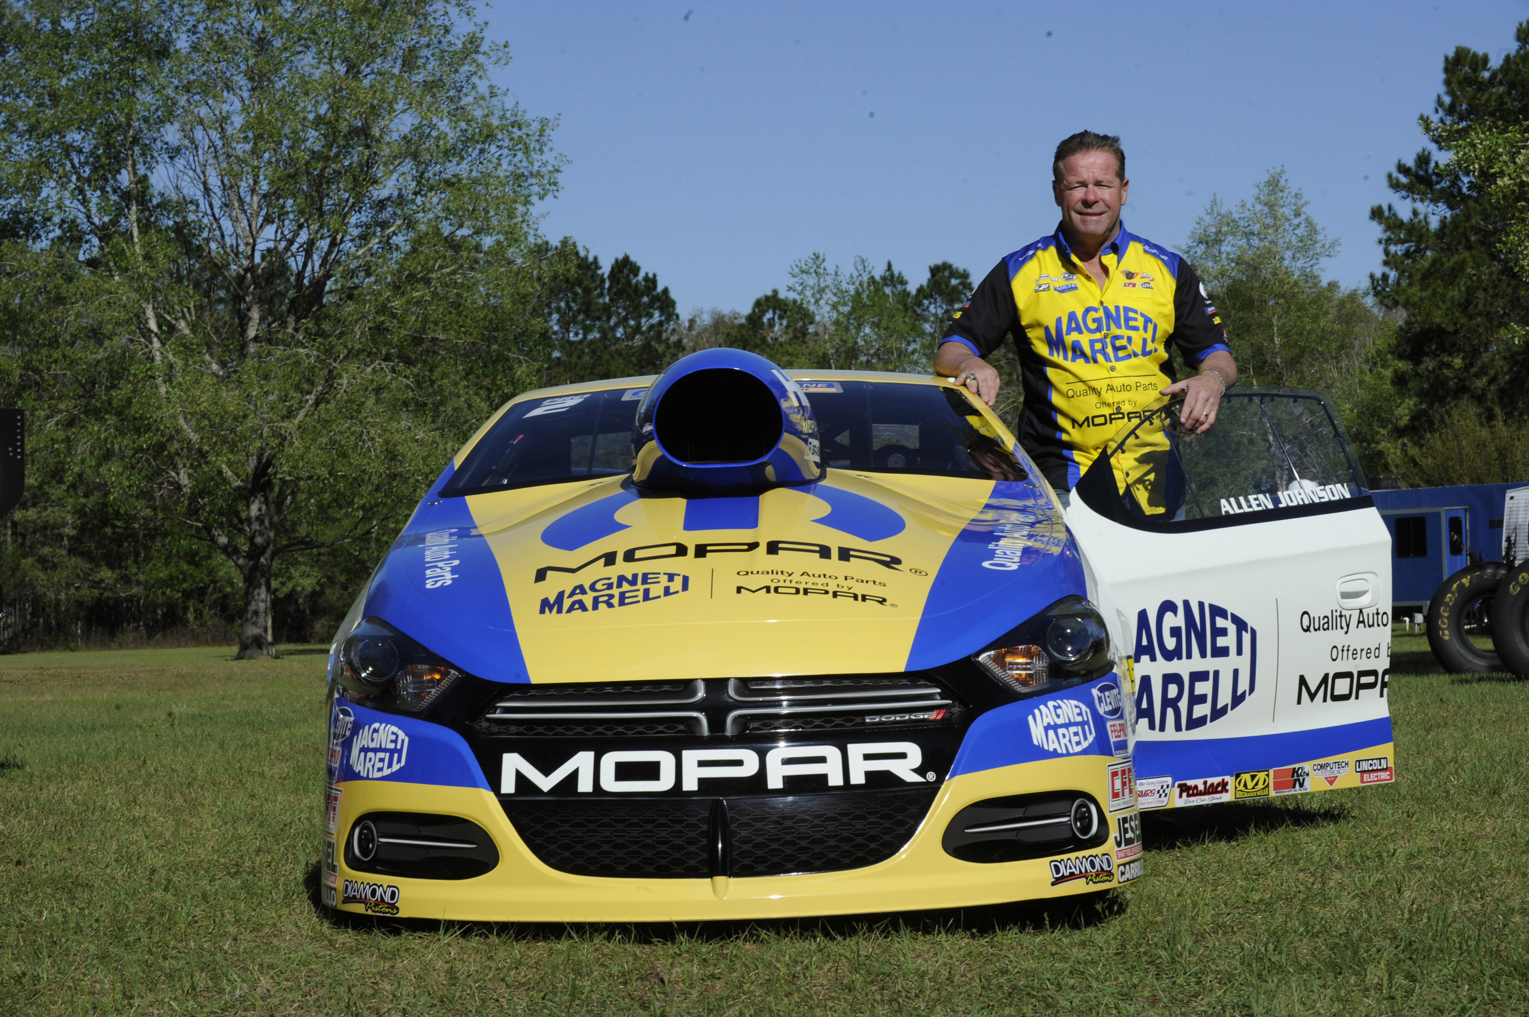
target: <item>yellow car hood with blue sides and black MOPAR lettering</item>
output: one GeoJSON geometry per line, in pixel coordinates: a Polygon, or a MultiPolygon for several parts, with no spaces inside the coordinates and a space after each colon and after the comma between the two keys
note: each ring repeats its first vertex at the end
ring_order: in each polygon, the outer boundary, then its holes
{"type": "Polygon", "coordinates": [[[917,670],[1086,592],[1027,482],[832,471],[687,499],[610,477],[442,499],[451,471],[364,612],[489,681],[917,670]]]}

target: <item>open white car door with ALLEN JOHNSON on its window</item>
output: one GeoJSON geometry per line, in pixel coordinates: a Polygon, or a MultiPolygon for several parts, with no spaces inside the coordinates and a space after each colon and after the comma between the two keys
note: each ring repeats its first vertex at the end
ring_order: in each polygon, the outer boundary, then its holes
{"type": "Polygon", "coordinates": [[[1089,468],[1067,525],[1135,670],[1144,809],[1387,783],[1390,534],[1327,399],[1177,402],[1089,468]]]}

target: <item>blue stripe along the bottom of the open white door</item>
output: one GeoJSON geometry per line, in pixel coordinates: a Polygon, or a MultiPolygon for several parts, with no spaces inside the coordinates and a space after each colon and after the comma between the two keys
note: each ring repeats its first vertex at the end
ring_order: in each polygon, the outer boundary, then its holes
{"type": "Polygon", "coordinates": [[[1391,742],[1391,719],[1361,720],[1309,731],[1251,734],[1193,742],[1136,742],[1138,777],[1200,780],[1245,769],[1272,769],[1346,755],[1391,742]]]}

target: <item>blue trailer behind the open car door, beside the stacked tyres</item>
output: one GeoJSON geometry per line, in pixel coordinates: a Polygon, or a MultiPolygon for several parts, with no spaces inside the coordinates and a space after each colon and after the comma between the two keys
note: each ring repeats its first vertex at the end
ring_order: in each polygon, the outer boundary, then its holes
{"type": "MultiPolygon", "coordinates": [[[[1427,610],[1445,577],[1471,561],[1501,560],[1503,506],[1509,492],[1515,502],[1529,502],[1529,488],[1523,482],[1370,492],[1385,528],[1391,531],[1394,615],[1427,610]]],[[[1517,534],[1520,561],[1529,557],[1524,543],[1524,534],[1517,534]]]]}

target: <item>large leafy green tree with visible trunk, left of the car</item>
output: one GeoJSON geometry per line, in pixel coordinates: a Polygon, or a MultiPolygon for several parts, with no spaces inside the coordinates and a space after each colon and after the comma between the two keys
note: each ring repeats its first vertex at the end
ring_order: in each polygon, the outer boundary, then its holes
{"type": "Polygon", "coordinates": [[[269,651],[277,557],[401,521],[399,492],[462,433],[440,424],[503,395],[544,332],[520,266],[552,125],[485,84],[508,55],[472,17],[446,0],[3,12],[18,378],[49,405],[50,376],[107,379],[72,393],[96,402],[70,440],[234,567],[240,656],[269,651]]]}

